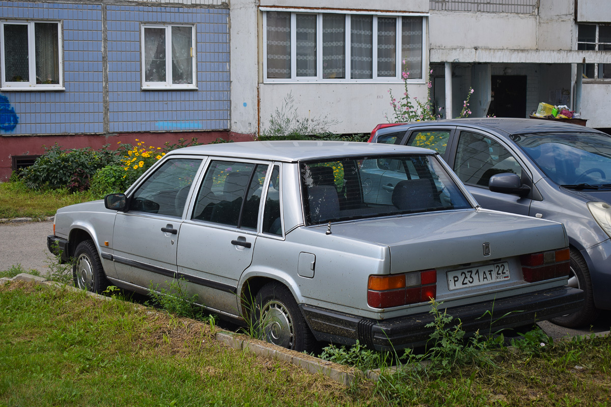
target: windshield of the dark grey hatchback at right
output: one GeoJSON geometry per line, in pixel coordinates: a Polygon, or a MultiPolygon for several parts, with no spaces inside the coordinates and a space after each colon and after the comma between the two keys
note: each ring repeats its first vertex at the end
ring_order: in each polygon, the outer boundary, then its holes
{"type": "Polygon", "coordinates": [[[596,133],[520,134],[511,137],[558,185],[609,187],[611,136],[596,133]]]}

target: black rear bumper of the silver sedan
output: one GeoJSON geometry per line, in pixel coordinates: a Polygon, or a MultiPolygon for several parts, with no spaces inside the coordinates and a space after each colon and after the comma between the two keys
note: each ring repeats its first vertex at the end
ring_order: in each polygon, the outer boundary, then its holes
{"type": "MultiPolygon", "coordinates": [[[[452,325],[460,320],[468,336],[475,331],[496,333],[570,314],[577,311],[583,301],[582,290],[565,286],[448,308],[446,312],[454,318],[452,325]]],[[[425,345],[433,329],[426,328],[434,320],[430,313],[374,320],[308,305],[301,305],[301,309],[316,339],[346,345],[354,345],[358,340],[376,350],[425,345]]]]}

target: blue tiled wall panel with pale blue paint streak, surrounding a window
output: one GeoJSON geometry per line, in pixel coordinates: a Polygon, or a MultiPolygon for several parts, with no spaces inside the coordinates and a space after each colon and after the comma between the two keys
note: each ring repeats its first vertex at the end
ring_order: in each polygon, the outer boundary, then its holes
{"type": "Polygon", "coordinates": [[[109,5],[111,132],[229,128],[229,10],[109,5]],[[141,23],[194,24],[198,90],[141,90],[141,23]]]}

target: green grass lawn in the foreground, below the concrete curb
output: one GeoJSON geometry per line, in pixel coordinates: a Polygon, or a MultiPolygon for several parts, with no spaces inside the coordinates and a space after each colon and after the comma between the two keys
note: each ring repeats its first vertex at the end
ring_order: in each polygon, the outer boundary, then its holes
{"type": "Polygon", "coordinates": [[[540,336],[492,363],[344,387],[214,340],[210,323],[62,287],[0,285],[0,406],[607,406],[611,338],[540,336]]]}

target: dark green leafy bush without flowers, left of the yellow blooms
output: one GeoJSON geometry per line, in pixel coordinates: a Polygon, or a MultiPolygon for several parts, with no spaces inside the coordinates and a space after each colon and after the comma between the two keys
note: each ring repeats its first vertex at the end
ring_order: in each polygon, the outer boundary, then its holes
{"type": "Polygon", "coordinates": [[[33,165],[21,171],[21,178],[32,189],[59,189],[68,187],[71,192],[89,188],[89,179],[99,168],[117,164],[118,158],[108,146],[100,150],[90,147],[62,149],[59,145],[46,148],[45,154],[33,165]]]}

